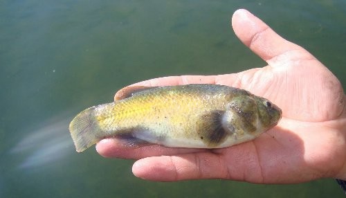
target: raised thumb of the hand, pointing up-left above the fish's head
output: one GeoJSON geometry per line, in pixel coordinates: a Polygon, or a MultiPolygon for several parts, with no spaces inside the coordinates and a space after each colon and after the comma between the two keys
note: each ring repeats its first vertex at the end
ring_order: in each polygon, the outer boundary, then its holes
{"type": "Polygon", "coordinates": [[[278,65],[277,58],[280,55],[280,60],[286,61],[286,53],[295,53],[295,58],[314,58],[313,55],[304,50],[304,48],[293,44],[286,39],[277,35],[269,26],[262,20],[255,17],[247,10],[237,10],[232,17],[232,26],[235,34],[239,39],[248,46],[251,51],[259,55],[263,60],[271,64],[278,65]],[[304,51],[304,53],[302,53],[304,51]],[[299,55],[297,57],[296,55],[299,55]],[[303,57],[302,57],[303,56],[303,57]]]}

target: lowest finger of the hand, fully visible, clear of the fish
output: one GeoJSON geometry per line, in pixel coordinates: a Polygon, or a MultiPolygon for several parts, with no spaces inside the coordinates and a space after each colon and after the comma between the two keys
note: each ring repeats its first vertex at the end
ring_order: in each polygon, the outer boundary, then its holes
{"type": "Polygon", "coordinates": [[[263,182],[253,143],[176,156],[154,156],[134,163],[136,177],[152,181],[233,179],[263,182]]]}

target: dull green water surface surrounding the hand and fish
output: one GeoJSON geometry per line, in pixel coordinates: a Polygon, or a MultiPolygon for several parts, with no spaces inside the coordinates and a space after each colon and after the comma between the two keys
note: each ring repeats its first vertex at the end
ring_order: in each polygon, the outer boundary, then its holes
{"type": "Polygon", "coordinates": [[[346,1],[0,1],[0,197],[344,197],[336,182],[159,183],[133,161],[78,154],[69,121],[127,84],[235,73],[265,62],[230,16],[246,8],[346,87],[346,1]]]}

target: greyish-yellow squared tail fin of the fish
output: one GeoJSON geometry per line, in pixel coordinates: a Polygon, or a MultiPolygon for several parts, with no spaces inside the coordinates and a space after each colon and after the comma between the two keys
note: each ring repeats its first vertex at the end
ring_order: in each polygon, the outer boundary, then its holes
{"type": "Polygon", "coordinates": [[[105,136],[95,118],[95,107],[85,109],[75,116],[70,123],[69,130],[77,152],[86,150],[105,136]]]}

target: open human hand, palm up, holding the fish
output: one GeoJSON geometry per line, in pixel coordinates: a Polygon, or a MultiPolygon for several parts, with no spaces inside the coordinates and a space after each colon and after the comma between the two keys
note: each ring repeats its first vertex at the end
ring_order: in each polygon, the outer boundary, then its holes
{"type": "MultiPolygon", "coordinates": [[[[136,85],[224,84],[268,98],[280,123],[255,140],[215,150],[129,147],[115,138],[96,146],[102,156],[138,159],[132,171],[154,181],[233,179],[298,183],[346,179],[346,96],[338,79],[304,48],[286,41],[246,10],[232,19],[239,39],[268,63],[235,74],[176,76],[136,85]]],[[[117,95],[116,95],[117,97],[117,95]]]]}

